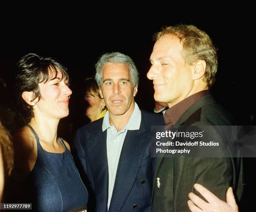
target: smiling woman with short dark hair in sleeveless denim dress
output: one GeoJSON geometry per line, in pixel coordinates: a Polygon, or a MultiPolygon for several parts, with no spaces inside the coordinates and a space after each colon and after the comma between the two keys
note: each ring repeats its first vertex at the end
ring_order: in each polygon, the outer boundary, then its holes
{"type": "Polygon", "coordinates": [[[67,69],[51,58],[30,53],[18,62],[16,91],[28,125],[13,139],[12,177],[36,211],[81,211],[87,204],[69,144],[57,136],[59,120],[69,115],[68,86],[67,69]]]}

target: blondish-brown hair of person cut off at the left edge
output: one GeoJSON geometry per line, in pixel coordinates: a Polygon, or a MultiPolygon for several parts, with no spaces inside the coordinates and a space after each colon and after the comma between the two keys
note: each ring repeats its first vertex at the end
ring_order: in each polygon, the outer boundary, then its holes
{"type": "Polygon", "coordinates": [[[0,202],[3,202],[3,190],[6,178],[13,169],[13,145],[10,134],[0,122],[0,202]]]}

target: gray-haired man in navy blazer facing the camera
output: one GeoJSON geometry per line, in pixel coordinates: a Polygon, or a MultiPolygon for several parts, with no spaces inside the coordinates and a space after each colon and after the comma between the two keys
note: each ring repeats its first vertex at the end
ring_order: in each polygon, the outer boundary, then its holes
{"type": "Polygon", "coordinates": [[[163,118],[135,103],[138,71],[129,56],[104,54],[95,79],[108,112],[78,129],[74,141],[89,201],[93,196],[96,211],[151,211],[155,160],[149,138],[151,126],[164,125],[163,118]]]}

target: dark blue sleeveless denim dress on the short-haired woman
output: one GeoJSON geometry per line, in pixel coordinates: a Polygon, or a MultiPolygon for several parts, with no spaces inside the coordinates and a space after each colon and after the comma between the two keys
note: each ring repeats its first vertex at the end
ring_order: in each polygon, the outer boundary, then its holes
{"type": "Polygon", "coordinates": [[[36,163],[26,179],[26,196],[31,200],[32,210],[58,212],[85,208],[88,201],[87,189],[62,139],[59,138],[65,149],[63,153],[45,151],[36,132],[31,126],[28,127],[37,143],[36,163]]]}

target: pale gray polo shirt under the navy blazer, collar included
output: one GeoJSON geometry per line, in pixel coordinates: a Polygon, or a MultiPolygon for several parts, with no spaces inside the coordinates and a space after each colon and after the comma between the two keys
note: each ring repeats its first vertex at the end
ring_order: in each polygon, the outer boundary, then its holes
{"type": "Polygon", "coordinates": [[[115,175],[118,168],[118,162],[128,130],[138,130],[141,125],[141,111],[135,103],[133,113],[128,123],[119,132],[114,125],[110,125],[109,112],[104,116],[102,131],[107,130],[107,156],[108,156],[108,209],[115,185],[115,175]]]}

